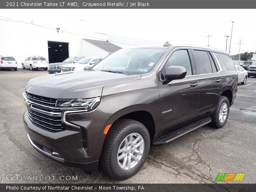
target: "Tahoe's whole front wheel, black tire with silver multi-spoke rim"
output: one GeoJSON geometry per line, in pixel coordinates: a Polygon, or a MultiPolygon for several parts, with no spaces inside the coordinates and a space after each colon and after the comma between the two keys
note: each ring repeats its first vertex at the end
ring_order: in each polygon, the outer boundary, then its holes
{"type": "Polygon", "coordinates": [[[100,165],[114,179],[126,179],[143,166],[150,148],[150,135],[140,122],[121,119],[106,136],[100,165]]]}

